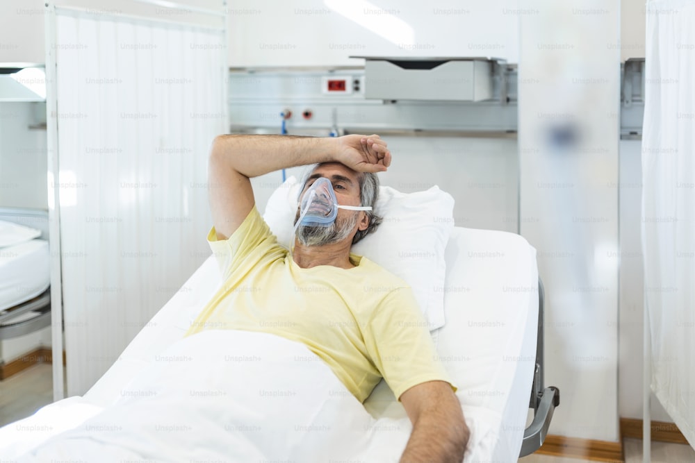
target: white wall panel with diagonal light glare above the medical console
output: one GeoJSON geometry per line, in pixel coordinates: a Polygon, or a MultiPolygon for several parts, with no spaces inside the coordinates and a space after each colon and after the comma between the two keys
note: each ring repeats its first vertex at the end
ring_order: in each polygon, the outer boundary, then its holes
{"type": "Polygon", "coordinates": [[[495,56],[517,62],[518,2],[234,1],[232,67],[362,65],[349,56],[495,56]]]}

